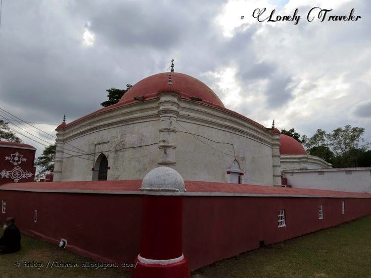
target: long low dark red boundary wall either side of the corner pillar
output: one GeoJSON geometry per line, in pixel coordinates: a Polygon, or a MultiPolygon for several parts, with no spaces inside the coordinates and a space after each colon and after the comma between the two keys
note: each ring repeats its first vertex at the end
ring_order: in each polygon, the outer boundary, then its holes
{"type": "MultiPolygon", "coordinates": [[[[0,186],[0,201],[6,200],[0,221],[14,216],[23,233],[52,243],[65,238],[67,249],[98,261],[133,262],[140,247],[140,183],[6,184],[0,186]],[[45,190],[51,192],[35,192],[45,190]]],[[[189,181],[185,185],[183,252],[190,270],[258,248],[260,241],[279,242],[371,213],[368,194],[189,181]],[[324,219],[318,217],[320,205],[324,219]],[[281,209],[286,227],[278,228],[281,209]]]]}

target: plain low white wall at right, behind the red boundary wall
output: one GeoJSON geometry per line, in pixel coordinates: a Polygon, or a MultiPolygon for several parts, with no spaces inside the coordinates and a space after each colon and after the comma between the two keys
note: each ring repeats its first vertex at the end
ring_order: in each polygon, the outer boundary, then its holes
{"type": "Polygon", "coordinates": [[[371,193],[371,167],[285,170],[293,188],[371,193]]]}

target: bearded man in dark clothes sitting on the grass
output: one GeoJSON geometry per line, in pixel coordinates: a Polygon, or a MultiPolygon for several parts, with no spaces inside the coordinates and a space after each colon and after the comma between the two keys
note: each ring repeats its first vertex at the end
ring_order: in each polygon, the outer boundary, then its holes
{"type": "Polygon", "coordinates": [[[13,217],[5,220],[4,234],[0,238],[0,254],[14,253],[21,249],[21,234],[14,222],[13,217]]]}

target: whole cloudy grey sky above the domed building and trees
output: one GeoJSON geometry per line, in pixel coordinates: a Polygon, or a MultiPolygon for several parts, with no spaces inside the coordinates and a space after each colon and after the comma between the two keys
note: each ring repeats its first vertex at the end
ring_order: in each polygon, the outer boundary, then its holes
{"type": "MultiPolygon", "coordinates": [[[[175,59],[176,72],[265,126],[275,119],[311,136],[351,124],[371,141],[370,16],[370,0],[2,0],[0,108],[55,134],[64,114],[67,122],[89,114],[106,89],[165,72],[175,59]],[[332,9],[327,17],[354,8],[362,18],[308,22],[313,7],[332,9]],[[301,19],[258,22],[257,8],[266,8],[261,19],[297,8],[301,19]]],[[[53,141],[3,110],[0,119],[53,141]]]]}

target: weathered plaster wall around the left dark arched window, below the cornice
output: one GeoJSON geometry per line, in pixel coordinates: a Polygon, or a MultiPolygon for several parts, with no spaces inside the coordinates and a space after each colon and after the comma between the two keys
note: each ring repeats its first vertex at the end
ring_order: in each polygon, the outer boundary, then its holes
{"type": "Polygon", "coordinates": [[[125,124],[97,130],[68,141],[69,144],[92,155],[81,156],[83,158],[81,159],[70,157],[66,151],[63,159],[62,181],[92,180],[92,169],[101,153],[108,159],[110,167],[108,180],[143,178],[147,172],[157,166],[158,123],[158,121],[147,121],[125,124]]]}

